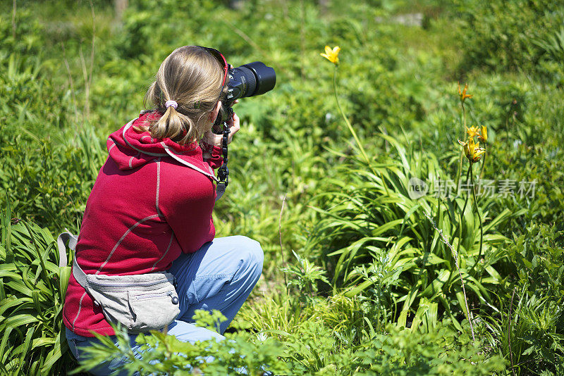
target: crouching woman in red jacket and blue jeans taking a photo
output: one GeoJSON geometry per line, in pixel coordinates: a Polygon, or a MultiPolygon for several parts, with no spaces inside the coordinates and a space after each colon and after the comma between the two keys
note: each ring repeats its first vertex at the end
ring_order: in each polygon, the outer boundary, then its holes
{"type": "MultiPolygon", "coordinates": [[[[214,49],[183,46],[159,68],[145,96],[146,111],[107,140],[109,157],[88,198],[76,261],[86,275],[142,275],[168,271],[176,277],[180,314],[166,327],[182,341],[222,339],[192,323],[197,309],[219,309],[223,333],[262,272],[260,245],[246,237],[214,239],[214,169],[221,137],[212,132],[221,111],[228,65],[214,49]]],[[[228,122],[231,134],[239,118],[228,122]]],[[[102,308],[71,275],[63,311],[75,358],[97,340],[114,336],[102,308]]],[[[130,336],[135,344],[136,334],[130,336]]],[[[115,337],[112,337],[115,339],[115,337]]],[[[108,375],[120,359],[90,372],[108,375]]]]}

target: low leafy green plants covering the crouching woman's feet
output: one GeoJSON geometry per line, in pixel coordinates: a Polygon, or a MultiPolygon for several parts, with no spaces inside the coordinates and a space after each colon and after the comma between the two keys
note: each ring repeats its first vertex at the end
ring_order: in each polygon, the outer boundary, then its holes
{"type": "MultiPolygon", "coordinates": [[[[196,325],[215,330],[219,322],[225,320],[219,311],[208,313],[196,311],[196,325]]],[[[100,344],[86,349],[87,360],[79,370],[94,368],[108,358],[128,360],[124,370],[133,375],[187,375],[204,373],[210,375],[264,375],[266,370],[286,372],[287,368],[277,356],[281,353],[281,344],[273,338],[253,336],[241,330],[227,333],[226,339],[216,341],[183,342],[174,336],[154,331],[139,334],[135,351],[130,346],[127,332],[116,329],[118,344],[109,337],[97,336],[100,344]]]]}

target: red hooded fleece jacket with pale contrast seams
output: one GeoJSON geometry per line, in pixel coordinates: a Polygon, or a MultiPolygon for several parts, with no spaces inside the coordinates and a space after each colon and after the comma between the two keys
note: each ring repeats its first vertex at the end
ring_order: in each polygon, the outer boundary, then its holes
{"type": "MultiPolygon", "coordinates": [[[[109,157],[88,197],[76,246],[86,274],[164,271],[180,252],[195,252],[214,239],[213,169],[223,161],[221,148],[209,146],[212,158],[204,161],[196,143],[180,145],[133,129],[158,116],[142,113],[108,138],[109,157]]],[[[63,322],[84,337],[114,334],[72,274],[63,322]]]]}

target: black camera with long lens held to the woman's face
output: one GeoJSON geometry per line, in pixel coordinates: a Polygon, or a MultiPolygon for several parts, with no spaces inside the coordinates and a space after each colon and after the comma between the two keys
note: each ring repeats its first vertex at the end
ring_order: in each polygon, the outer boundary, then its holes
{"type": "Polygon", "coordinates": [[[221,133],[221,124],[233,114],[233,102],[247,96],[264,94],[274,89],[276,73],[274,69],[260,61],[241,65],[228,70],[227,93],[223,99],[223,111],[216,119],[214,130],[221,133]]]}

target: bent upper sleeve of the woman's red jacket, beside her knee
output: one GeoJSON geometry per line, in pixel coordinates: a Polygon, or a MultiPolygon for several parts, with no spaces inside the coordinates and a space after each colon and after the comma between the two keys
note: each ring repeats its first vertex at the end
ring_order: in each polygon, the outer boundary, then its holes
{"type": "Polygon", "coordinates": [[[215,236],[214,184],[209,177],[185,167],[175,168],[166,177],[159,208],[183,253],[195,252],[215,236]]]}

